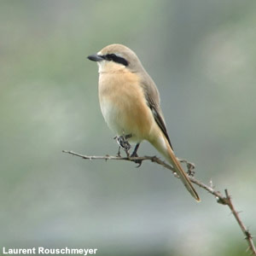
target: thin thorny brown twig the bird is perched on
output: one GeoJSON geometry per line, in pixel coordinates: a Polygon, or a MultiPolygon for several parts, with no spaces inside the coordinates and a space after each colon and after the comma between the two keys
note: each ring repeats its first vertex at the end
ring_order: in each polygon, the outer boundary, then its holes
{"type": "MultiPolygon", "coordinates": [[[[151,160],[154,163],[159,164],[160,166],[164,166],[165,168],[171,170],[173,173],[174,169],[172,166],[166,164],[165,161],[160,160],[160,158],[156,157],[156,156],[142,156],[142,157],[122,157],[122,156],[111,156],[111,155],[103,155],[103,156],[90,156],[90,155],[84,155],[84,154],[78,154],[75,153],[73,151],[67,151],[67,150],[62,150],[63,153],[67,153],[67,154],[73,154],[76,156],[79,156],[83,159],[88,159],[88,160],[127,160],[127,161],[132,161],[132,162],[136,162],[136,161],[143,161],[143,160],[151,160]]],[[[189,161],[187,160],[179,160],[180,162],[183,162],[186,164],[187,168],[188,168],[188,173],[189,175],[194,175],[194,169],[195,169],[195,165],[192,163],[189,163],[189,161]]],[[[175,177],[177,177],[177,175],[175,175],[175,177]]],[[[241,218],[239,217],[239,212],[236,211],[233,202],[231,201],[230,198],[230,194],[228,193],[228,189],[225,189],[225,195],[222,195],[219,191],[216,191],[212,188],[211,186],[207,186],[205,183],[202,183],[201,181],[195,179],[195,177],[189,176],[189,179],[192,183],[195,183],[196,185],[198,185],[199,187],[201,187],[202,189],[207,190],[207,192],[209,192],[210,194],[214,195],[215,198],[217,199],[217,202],[222,204],[222,205],[226,205],[228,207],[230,207],[230,210],[232,212],[232,214],[234,215],[234,217],[236,218],[237,223],[239,224],[242,233],[245,235],[245,239],[247,240],[248,243],[248,249],[251,251],[252,255],[256,255],[256,249],[253,243],[253,236],[252,234],[249,232],[249,230],[247,229],[247,227],[245,226],[245,224],[242,223],[241,218]]]]}

